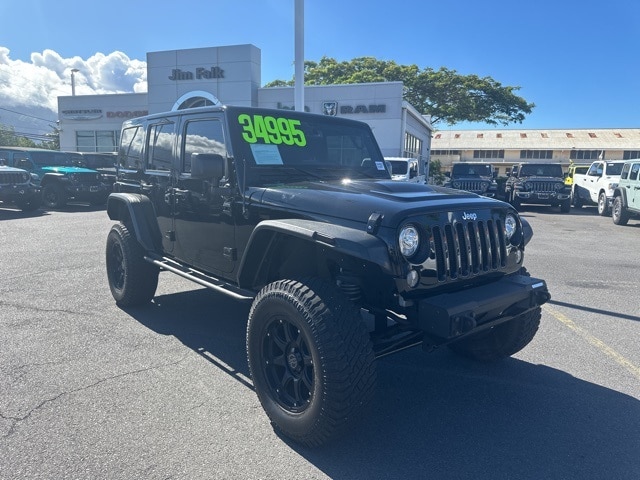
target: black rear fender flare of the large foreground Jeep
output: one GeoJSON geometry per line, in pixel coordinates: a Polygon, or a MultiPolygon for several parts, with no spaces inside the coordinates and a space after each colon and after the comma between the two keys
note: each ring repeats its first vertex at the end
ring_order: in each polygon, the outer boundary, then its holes
{"type": "Polygon", "coordinates": [[[132,225],[138,243],[147,252],[162,252],[162,233],[149,197],[137,193],[111,193],[107,199],[107,214],[111,220],[132,225]]]}

